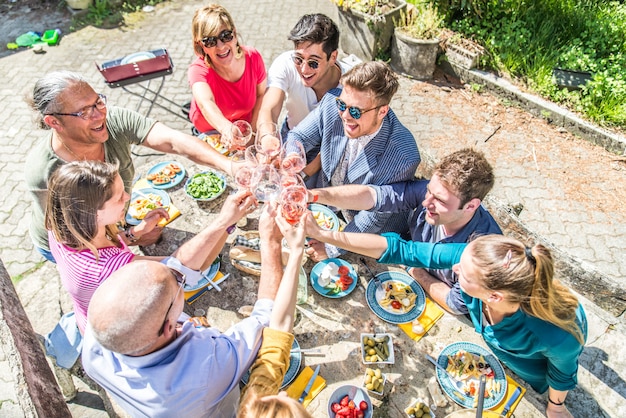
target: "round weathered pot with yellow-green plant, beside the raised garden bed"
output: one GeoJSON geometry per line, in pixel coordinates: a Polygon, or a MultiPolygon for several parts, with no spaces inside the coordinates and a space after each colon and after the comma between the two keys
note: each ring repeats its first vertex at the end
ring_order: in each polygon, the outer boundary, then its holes
{"type": "Polygon", "coordinates": [[[391,66],[395,71],[427,80],[433,77],[443,17],[430,3],[408,7],[395,21],[391,66]]]}

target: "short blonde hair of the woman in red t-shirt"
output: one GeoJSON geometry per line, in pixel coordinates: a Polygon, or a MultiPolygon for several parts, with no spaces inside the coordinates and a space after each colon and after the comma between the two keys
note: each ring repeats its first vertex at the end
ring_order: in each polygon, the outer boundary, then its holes
{"type": "MultiPolygon", "coordinates": [[[[211,67],[211,59],[204,52],[202,47],[202,39],[207,36],[217,36],[222,26],[226,26],[228,30],[232,30],[237,36],[235,22],[228,13],[228,10],[219,4],[209,4],[196,10],[191,20],[191,41],[193,50],[197,56],[204,59],[204,63],[211,67]]],[[[237,53],[235,58],[239,59],[243,56],[243,50],[237,40],[237,53]]]]}

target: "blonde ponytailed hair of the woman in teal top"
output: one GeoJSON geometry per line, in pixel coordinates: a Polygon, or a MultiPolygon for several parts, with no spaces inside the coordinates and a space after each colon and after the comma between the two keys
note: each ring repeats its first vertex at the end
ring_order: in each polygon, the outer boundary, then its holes
{"type": "Polygon", "coordinates": [[[507,298],[519,303],[527,314],[585,343],[583,330],[576,322],[578,299],[554,279],[554,262],[546,247],[537,244],[529,248],[502,235],[481,236],[470,246],[472,262],[485,287],[506,291],[507,298]]]}

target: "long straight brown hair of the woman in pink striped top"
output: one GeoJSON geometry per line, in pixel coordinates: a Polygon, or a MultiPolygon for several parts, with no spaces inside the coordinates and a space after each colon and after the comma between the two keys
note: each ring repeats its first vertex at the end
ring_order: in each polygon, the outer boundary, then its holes
{"type": "MultiPolygon", "coordinates": [[[[46,229],[74,250],[89,248],[98,260],[98,249],[92,244],[98,232],[98,210],[113,196],[117,176],[117,164],[100,161],[73,161],[60,166],[48,180],[46,229]]],[[[117,226],[107,225],[106,231],[111,242],[119,245],[117,226]]]]}

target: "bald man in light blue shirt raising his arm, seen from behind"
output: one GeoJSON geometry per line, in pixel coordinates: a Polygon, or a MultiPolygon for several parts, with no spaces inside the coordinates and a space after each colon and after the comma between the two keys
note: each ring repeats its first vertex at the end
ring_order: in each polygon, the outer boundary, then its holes
{"type": "Polygon", "coordinates": [[[85,371],[131,416],[234,417],[239,382],[261,346],[283,275],[273,229],[266,208],[257,302],[224,333],[187,320],[177,268],[140,260],[113,273],[91,299],[85,371]]]}

